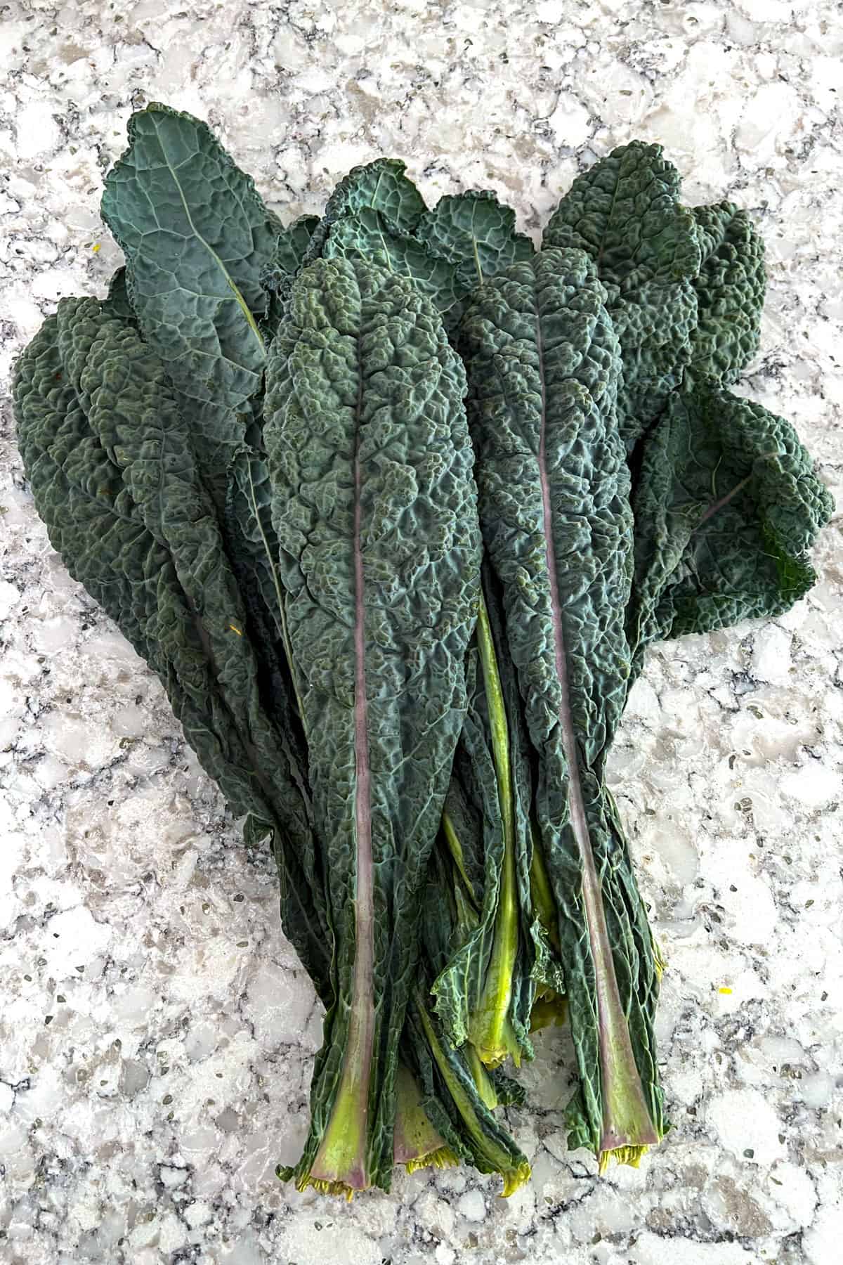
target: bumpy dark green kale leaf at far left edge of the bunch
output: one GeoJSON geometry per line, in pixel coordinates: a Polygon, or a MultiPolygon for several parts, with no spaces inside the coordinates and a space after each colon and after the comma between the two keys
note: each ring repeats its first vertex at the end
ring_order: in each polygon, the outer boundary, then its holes
{"type": "Polygon", "coordinates": [[[107,304],[64,299],[18,361],[14,397],[52,545],[159,677],[250,836],[272,832],[284,932],[330,1004],[310,802],[269,719],[248,612],[161,361],[107,304]]]}

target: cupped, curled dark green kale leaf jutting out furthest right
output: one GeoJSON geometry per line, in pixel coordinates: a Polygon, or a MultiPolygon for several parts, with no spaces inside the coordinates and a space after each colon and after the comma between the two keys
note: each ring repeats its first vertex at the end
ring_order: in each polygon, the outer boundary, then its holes
{"type": "Polygon", "coordinates": [[[771,619],[804,597],[833,502],[784,417],[701,381],[643,439],[633,510],[637,674],[652,640],[771,619]]]}

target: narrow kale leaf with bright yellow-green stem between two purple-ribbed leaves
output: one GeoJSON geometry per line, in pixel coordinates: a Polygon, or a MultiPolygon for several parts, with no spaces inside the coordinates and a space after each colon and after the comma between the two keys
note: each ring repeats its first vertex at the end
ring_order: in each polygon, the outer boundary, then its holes
{"type": "Polygon", "coordinates": [[[469,712],[442,817],[452,860],[442,885],[454,889],[458,911],[447,963],[432,993],[439,1018],[466,1060],[495,1068],[507,1054],[516,1064],[532,1059],[530,1034],[561,1022],[566,1011],[556,908],[533,831],[518,684],[497,581],[488,564],[483,572],[478,646],[466,673],[469,712]]]}

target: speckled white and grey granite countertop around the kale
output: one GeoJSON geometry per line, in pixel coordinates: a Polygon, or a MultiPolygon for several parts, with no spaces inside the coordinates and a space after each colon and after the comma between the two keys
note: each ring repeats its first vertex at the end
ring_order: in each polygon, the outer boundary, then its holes
{"type": "Polygon", "coordinates": [[[825,0],[11,0],[0,15],[0,1261],[832,1265],[843,1242],[839,525],[787,616],[650,654],[610,777],[669,970],[674,1130],[638,1171],[565,1151],[567,1059],[511,1111],[533,1179],[397,1175],[345,1204],[298,1154],[321,1012],[163,692],[49,548],[5,383],[119,250],[131,108],[207,118],[288,220],[403,157],[537,233],[581,164],[660,140],[685,200],[749,209],[770,290],[752,395],[843,503],[843,27],[825,0]],[[837,484],[837,488],[835,488],[837,484]]]}

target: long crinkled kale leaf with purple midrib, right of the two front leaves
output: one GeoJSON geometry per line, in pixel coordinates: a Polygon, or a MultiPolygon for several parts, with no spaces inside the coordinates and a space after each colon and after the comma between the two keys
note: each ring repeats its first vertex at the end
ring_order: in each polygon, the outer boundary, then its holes
{"type": "Polygon", "coordinates": [[[461,326],[484,541],[538,760],[537,815],[581,1082],[571,1128],[603,1156],[662,1132],[652,958],[629,927],[626,851],[603,767],[628,676],[629,476],[604,290],[547,249],[483,287],[461,326]],[[642,987],[646,985],[646,987],[642,987]]]}

